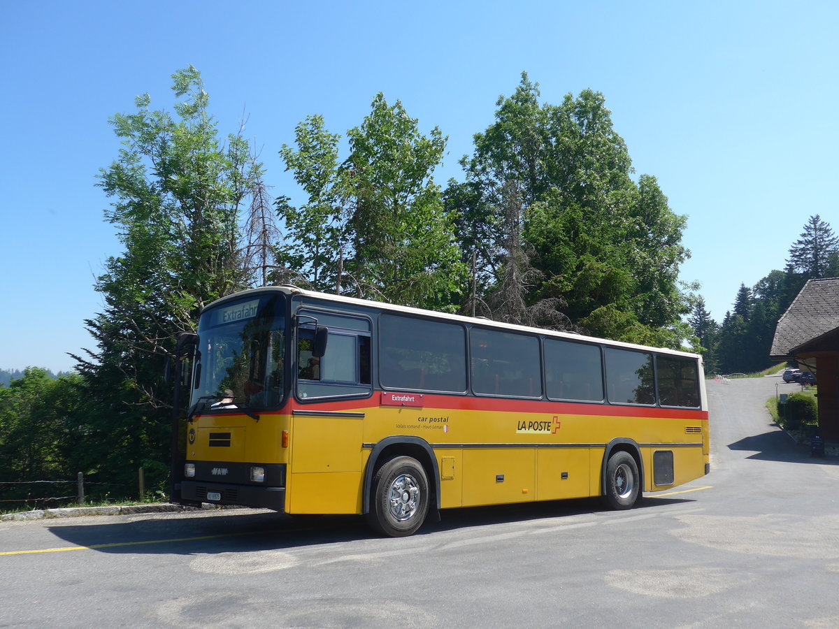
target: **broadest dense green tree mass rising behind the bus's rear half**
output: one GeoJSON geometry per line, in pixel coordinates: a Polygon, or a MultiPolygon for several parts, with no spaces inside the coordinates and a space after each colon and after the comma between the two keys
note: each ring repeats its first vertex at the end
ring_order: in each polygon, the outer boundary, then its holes
{"type": "Polygon", "coordinates": [[[677,279],[688,257],[685,218],[670,211],[654,177],[633,181],[602,94],[540,105],[538,85],[523,74],[461,164],[466,180],[451,182],[446,200],[460,213],[461,248],[477,257],[487,295],[505,267],[502,198],[513,186],[531,264],[542,274],[529,304],[557,299],[574,325],[596,335],[681,345],[690,311],[677,279]]]}

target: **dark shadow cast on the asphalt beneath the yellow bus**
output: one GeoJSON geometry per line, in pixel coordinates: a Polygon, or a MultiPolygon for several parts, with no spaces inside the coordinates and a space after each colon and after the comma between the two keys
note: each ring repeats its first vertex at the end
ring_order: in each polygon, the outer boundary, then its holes
{"type": "MultiPolygon", "coordinates": [[[[651,496],[640,502],[638,508],[651,509],[680,502],[691,501],[651,496]]],[[[596,498],[452,509],[442,513],[440,522],[430,518],[417,535],[548,518],[555,523],[556,518],[597,513],[608,516],[614,512],[603,508],[596,498]]],[[[49,530],[73,546],[109,554],[248,553],[375,537],[360,516],[292,517],[247,510],[212,517],[158,516],[131,522],[55,524],[49,530]]]]}

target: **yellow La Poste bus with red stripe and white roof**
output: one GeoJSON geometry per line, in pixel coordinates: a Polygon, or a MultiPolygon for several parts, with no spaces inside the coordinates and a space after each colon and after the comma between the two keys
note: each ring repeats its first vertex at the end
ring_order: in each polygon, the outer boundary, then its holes
{"type": "Polygon", "coordinates": [[[602,496],[708,472],[701,356],[294,286],[201,313],[173,498],[364,514],[602,496]]]}

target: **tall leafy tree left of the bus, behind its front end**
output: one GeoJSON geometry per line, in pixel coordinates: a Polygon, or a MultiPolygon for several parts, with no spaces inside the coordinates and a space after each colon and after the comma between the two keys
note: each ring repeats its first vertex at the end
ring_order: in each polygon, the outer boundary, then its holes
{"type": "Polygon", "coordinates": [[[240,212],[261,168],[241,135],[219,138],[199,72],[172,79],[174,115],[143,95],[136,112],[111,119],[122,149],[100,185],[123,251],[97,278],[104,309],[86,321],[96,349],[76,356],[87,393],[83,471],[123,479],[144,460],[166,459],[162,376],[176,336],[195,329],[203,305],[253,278],[240,212]]]}

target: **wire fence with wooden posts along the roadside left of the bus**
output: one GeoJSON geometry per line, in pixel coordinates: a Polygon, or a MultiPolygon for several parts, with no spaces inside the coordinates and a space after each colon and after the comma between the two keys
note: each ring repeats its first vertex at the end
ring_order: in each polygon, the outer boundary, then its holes
{"type": "Polygon", "coordinates": [[[86,501],[108,502],[112,494],[117,499],[138,496],[143,500],[145,481],[142,467],[138,470],[137,478],[136,484],[89,481],[79,472],[72,481],[0,481],[0,511],[84,505],[86,501]],[[70,490],[70,487],[74,489],[70,490]],[[54,493],[67,495],[50,495],[54,493]]]}

